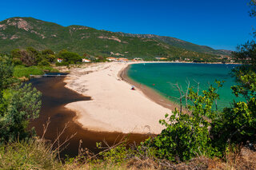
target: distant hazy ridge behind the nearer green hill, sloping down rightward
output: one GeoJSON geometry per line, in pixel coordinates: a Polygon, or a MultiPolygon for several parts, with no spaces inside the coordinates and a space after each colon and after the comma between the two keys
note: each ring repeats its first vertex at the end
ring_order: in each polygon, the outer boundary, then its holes
{"type": "Polygon", "coordinates": [[[166,44],[173,45],[178,48],[187,49],[190,51],[196,51],[198,53],[210,53],[210,54],[216,54],[216,55],[230,55],[232,51],[226,50],[226,49],[213,49],[206,45],[196,45],[191,42],[185,42],[183,40],[180,40],[178,38],[171,38],[166,36],[158,36],[154,34],[126,34],[122,32],[117,32],[117,34],[120,34],[122,36],[128,36],[128,37],[137,37],[137,38],[151,38],[160,40],[162,42],[166,42],[166,44]]]}

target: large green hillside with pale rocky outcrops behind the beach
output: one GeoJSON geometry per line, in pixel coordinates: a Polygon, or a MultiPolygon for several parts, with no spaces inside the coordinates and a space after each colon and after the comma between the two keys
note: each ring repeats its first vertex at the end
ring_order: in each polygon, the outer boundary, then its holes
{"type": "Polygon", "coordinates": [[[198,61],[216,61],[220,58],[220,55],[215,55],[220,53],[202,53],[204,51],[163,38],[130,36],[87,26],[60,26],[35,18],[8,18],[0,22],[0,52],[10,53],[12,49],[25,49],[28,46],[55,52],[67,49],[80,55],[143,57],[148,60],[156,56],[198,61]]]}

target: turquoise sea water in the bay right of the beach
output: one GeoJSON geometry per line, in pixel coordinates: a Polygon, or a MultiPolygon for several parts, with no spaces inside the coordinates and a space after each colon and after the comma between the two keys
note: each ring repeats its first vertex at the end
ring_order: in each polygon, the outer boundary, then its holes
{"type": "MultiPolygon", "coordinates": [[[[178,83],[186,91],[186,82],[197,89],[200,82],[200,90],[208,89],[209,84],[214,81],[225,81],[223,87],[218,89],[220,100],[218,107],[230,106],[230,102],[238,98],[232,94],[230,86],[235,85],[234,78],[230,77],[230,71],[237,65],[222,64],[195,64],[195,63],[146,63],[130,65],[128,76],[146,85],[170,101],[178,102],[173,97],[180,97],[178,89],[174,84],[178,83]]],[[[239,99],[241,100],[241,99],[239,99]]]]}

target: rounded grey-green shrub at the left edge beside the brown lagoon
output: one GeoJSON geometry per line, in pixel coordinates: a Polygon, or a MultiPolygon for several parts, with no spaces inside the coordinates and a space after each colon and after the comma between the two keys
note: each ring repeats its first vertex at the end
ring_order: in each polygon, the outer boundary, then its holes
{"type": "Polygon", "coordinates": [[[39,116],[41,93],[30,84],[25,84],[11,89],[6,96],[6,107],[0,117],[0,127],[4,127],[0,129],[0,142],[17,138],[22,140],[33,135],[33,131],[27,128],[29,121],[39,116]]]}

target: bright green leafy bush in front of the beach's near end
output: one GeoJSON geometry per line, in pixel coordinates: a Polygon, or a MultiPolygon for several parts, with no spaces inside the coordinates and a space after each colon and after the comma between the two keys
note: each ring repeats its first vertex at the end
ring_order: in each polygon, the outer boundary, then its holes
{"type": "Polygon", "coordinates": [[[218,98],[213,86],[198,95],[190,89],[188,105],[189,113],[180,113],[175,109],[172,115],[166,114],[168,120],[159,122],[166,126],[153,142],[150,139],[145,144],[156,148],[156,155],[160,158],[174,161],[190,160],[194,156],[212,156],[214,148],[211,147],[210,118],[217,114],[212,109],[213,102],[218,98]]]}

